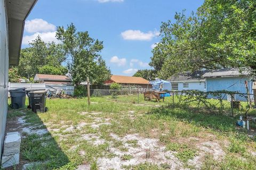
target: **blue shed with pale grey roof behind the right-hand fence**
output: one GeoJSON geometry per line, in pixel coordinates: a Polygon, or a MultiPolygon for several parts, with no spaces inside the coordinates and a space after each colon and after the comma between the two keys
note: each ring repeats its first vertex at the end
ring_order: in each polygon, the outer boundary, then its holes
{"type": "MultiPolygon", "coordinates": [[[[203,77],[206,80],[206,91],[228,90],[246,94],[245,81],[248,81],[249,92],[253,94],[252,80],[248,71],[239,72],[238,69],[220,69],[207,72],[203,77]]],[[[211,96],[210,98],[214,97],[211,96]]],[[[227,95],[223,99],[227,100],[227,95]]],[[[246,101],[246,98],[235,95],[235,100],[246,101]]]]}

